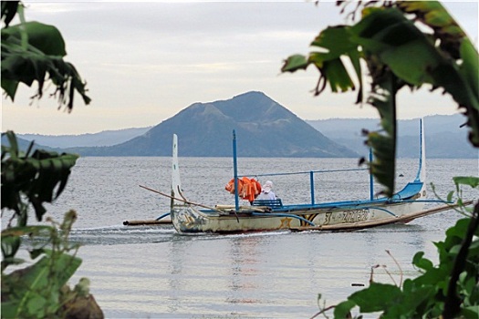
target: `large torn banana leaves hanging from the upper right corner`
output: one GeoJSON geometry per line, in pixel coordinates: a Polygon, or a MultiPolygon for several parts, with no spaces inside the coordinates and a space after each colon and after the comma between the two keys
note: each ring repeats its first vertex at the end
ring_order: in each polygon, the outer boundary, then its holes
{"type": "MultiPolygon", "coordinates": [[[[339,5],[347,3],[338,2],[339,5]]],[[[362,2],[359,2],[360,6],[362,2]]],[[[371,93],[367,99],[380,113],[384,129],[368,134],[375,160],[370,170],[385,192],[394,187],[396,151],[396,95],[402,87],[428,84],[442,87],[463,109],[470,127],[469,139],[479,147],[478,54],[463,30],[437,1],[366,2],[362,19],[354,26],[330,26],[321,31],[308,56],[288,57],[283,72],[314,66],[319,71],[316,95],[327,83],[333,92],[354,90],[363,101],[360,60],[368,67],[371,93]],[[421,26],[422,25],[422,26],[421,26]],[[432,32],[423,31],[428,26],[432,32]],[[411,54],[414,58],[411,58],[411,54]],[[349,61],[352,75],[346,62],[349,61]]]]}

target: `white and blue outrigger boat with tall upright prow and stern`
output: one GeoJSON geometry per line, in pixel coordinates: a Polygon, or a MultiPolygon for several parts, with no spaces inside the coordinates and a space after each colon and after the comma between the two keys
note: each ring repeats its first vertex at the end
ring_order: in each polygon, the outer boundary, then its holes
{"type": "MultiPolygon", "coordinates": [[[[377,197],[373,193],[370,177],[370,198],[360,201],[332,201],[316,203],[313,179],[311,202],[286,204],[281,200],[252,201],[239,205],[236,168],[236,143],[233,131],[234,152],[234,205],[206,206],[189,201],[182,191],[178,160],[178,137],[172,139],[172,190],[171,194],[152,190],[171,199],[170,216],[179,233],[213,232],[268,232],[277,230],[300,231],[354,231],[380,225],[409,222],[437,211],[451,209],[450,205],[424,211],[426,199],[426,161],[422,120],[420,122],[420,156],[416,177],[391,197],[377,197]]],[[[372,155],[370,155],[372,160],[372,155]]],[[[146,188],[146,187],[144,187],[146,188]]],[[[148,188],[146,188],[148,189],[148,188]]],[[[151,190],[151,189],[148,189],[151,190]]]]}

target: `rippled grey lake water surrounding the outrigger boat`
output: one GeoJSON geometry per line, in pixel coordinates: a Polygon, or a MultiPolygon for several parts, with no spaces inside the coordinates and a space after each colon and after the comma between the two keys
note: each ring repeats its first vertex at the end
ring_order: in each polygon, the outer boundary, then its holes
{"type": "MultiPolygon", "coordinates": [[[[188,199],[208,206],[234,204],[224,190],[232,164],[227,158],[180,158],[188,199]]],[[[428,183],[445,198],[453,176],[477,176],[478,165],[478,160],[427,160],[428,183]]],[[[368,284],[371,266],[386,266],[400,283],[401,275],[416,274],[415,252],[437,261],[432,242],[443,240],[445,229],[461,217],[444,211],[359,232],[179,235],[169,225],[123,226],[169,211],[169,199],[139,185],[169,193],[170,166],[170,158],[82,158],[68,189],[48,206],[56,220],[69,209],[78,211],[71,241],[83,244],[78,252],[83,263],[70,283],[89,277],[91,293],[108,318],[308,318],[318,312],[318,293],[328,305],[345,300],[360,289],[353,283],[368,284]]],[[[358,168],[357,160],[238,159],[239,174],[249,177],[345,167],[358,168]]],[[[399,160],[398,187],[416,170],[417,160],[399,160]]],[[[267,179],[285,203],[310,201],[307,174],[267,179]]],[[[316,201],[364,199],[369,177],[366,171],[322,174],[315,189],[316,201]]],[[[435,198],[431,187],[428,197],[435,198]]],[[[383,268],[374,279],[392,283],[383,268]]]]}

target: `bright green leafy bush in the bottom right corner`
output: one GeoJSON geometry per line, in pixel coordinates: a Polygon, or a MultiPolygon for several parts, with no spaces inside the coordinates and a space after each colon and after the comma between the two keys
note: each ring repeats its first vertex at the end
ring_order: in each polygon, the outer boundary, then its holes
{"type": "MultiPolygon", "coordinates": [[[[479,178],[459,177],[454,183],[457,202],[461,203],[462,187],[477,188],[479,178]]],[[[439,264],[425,258],[424,252],[417,252],[412,264],[419,276],[406,279],[402,287],[371,281],[368,288],[334,306],[334,317],[347,318],[358,311],[358,318],[372,313],[379,313],[381,318],[478,318],[479,203],[474,209],[462,206],[461,210],[466,217],[446,231],[443,242],[434,242],[439,264]]]]}

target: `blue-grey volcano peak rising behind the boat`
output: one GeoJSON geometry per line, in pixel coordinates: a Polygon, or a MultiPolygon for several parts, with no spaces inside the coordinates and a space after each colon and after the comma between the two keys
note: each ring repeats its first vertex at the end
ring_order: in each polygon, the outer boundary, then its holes
{"type": "Polygon", "coordinates": [[[358,157],[261,92],[194,103],[118,145],[67,150],[82,156],[171,156],[176,133],[180,156],[230,157],[233,130],[242,157],[358,157]]]}

